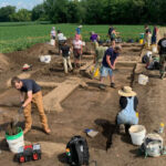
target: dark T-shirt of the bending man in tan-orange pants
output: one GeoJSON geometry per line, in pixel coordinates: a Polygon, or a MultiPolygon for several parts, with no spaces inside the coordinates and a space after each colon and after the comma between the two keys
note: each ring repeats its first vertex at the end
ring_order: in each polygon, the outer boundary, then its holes
{"type": "Polygon", "coordinates": [[[41,91],[41,87],[33,80],[21,80],[23,86],[21,87],[21,92],[32,91],[32,94],[41,91]]]}

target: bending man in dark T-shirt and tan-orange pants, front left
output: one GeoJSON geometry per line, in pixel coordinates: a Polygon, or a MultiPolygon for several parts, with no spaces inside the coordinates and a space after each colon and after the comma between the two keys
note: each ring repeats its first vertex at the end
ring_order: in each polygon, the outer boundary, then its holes
{"type": "Polygon", "coordinates": [[[41,87],[33,80],[21,80],[17,76],[12,77],[11,85],[20,91],[20,100],[22,104],[21,111],[24,113],[25,118],[23,134],[27,134],[32,126],[31,103],[37,105],[43,129],[46,134],[50,134],[51,129],[49,128],[48,118],[43,108],[41,87]]]}

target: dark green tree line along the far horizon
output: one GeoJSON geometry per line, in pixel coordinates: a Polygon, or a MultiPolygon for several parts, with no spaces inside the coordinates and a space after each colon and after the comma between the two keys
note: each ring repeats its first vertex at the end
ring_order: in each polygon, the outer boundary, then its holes
{"type": "Polygon", "coordinates": [[[165,24],[166,0],[44,0],[31,11],[0,8],[0,22],[165,24]]]}

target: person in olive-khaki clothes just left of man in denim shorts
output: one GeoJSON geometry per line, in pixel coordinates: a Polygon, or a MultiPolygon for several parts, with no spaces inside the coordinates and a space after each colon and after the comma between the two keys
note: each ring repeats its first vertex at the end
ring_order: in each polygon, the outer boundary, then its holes
{"type": "Polygon", "coordinates": [[[94,48],[95,54],[94,54],[94,70],[91,75],[92,79],[94,77],[94,73],[96,72],[96,70],[101,68],[103,56],[105,54],[105,51],[107,50],[107,46],[103,46],[102,42],[100,43],[94,42],[94,48]]]}

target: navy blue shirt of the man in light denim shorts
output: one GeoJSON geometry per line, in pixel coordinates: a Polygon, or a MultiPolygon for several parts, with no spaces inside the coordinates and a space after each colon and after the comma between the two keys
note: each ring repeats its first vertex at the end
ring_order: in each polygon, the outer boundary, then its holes
{"type": "Polygon", "coordinates": [[[118,53],[115,53],[114,52],[114,49],[113,48],[108,48],[106,51],[105,51],[105,54],[104,54],[104,58],[103,58],[103,62],[102,64],[105,66],[105,68],[110,68],[107,62],[106,62],[106,56],[110,56],[110,60],[111,60],[111,64],[113,65],[116,58],[118,56],[118,53]]]}

